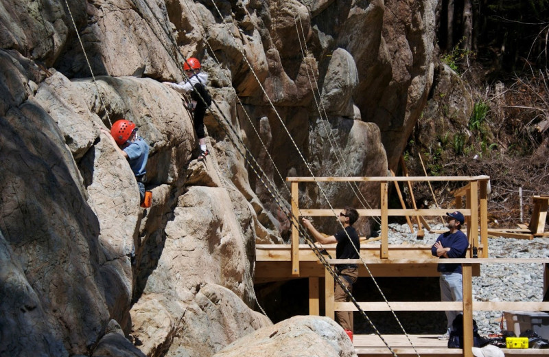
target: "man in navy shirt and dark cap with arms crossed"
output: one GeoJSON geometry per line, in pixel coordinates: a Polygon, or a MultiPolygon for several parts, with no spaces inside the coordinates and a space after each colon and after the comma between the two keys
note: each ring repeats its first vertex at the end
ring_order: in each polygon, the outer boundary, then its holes
{"type": "MultiPolygon", "coordinates": [[[[442,233],[439,235],[439,238],[436,238],[436,242],[434,242],[431,248],[431,253],[441,259],[465,258],[465,253],[467,253],[467,248],[469,247],[467,235],[461,231],[465,218],[460,211],[446,215],[449,231],[442,233]]],[[[440,273],[441,301],[463,301],[461,264],[441,263],[436,270],[440,273]]],[[[449,338],[452,322],[454,322],[458,313],[458,311],[446,312],[446,319],[448,320],[447,330],[445,334],[439,336],[439,339],[447,340],[449,338]]]]}

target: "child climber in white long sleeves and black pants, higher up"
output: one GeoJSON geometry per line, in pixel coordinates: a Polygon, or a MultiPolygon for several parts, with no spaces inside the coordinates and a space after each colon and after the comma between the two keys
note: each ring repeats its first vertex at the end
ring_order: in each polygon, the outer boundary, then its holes
{"type": "Polygon", "coordinates": [[[211,105],[211,97],[206,91],[208,75],[200,71],[200,61],[194,57],[185,61],[183,69],[185,69],[185,74],[189,78],[187,82],[163,82],[163,84],[172,87],[180,93],[191,93],[192,102],[189,103],[189,110],[194,113],[194,130],[196,130],[198,144],[200,145],[198,161],[202,161],[209,155],[204,132],[204,115],[208,106],[211,105]]]}

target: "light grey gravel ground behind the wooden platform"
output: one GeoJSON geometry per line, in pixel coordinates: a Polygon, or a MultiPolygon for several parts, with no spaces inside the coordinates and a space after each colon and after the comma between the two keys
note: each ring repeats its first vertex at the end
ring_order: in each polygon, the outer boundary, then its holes
{"type": "MultiPolygon", "coordinates": [[[[431,229],[445,228],[434,224],[431,229]]],[[[389,244],[432,245],[438,235],[425,231],[423,240],[417,240],[408,224],[389,224],[389,244]]],[[[547,238],[489,238],[489,257],[549,257],[549,242],[547,238]]],[[[480,276],[473,277],[473,297],[476,301],[541,301],[543,284],[542,264],[482,264],[480,276]]],[[[500,332],[501,311],[476,311],[473,316],[481,335],[500,332]]]]}

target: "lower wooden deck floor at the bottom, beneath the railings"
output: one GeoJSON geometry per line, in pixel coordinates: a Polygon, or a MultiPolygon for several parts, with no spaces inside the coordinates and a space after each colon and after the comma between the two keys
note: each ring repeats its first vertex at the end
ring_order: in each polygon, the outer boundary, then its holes
{"type": "MultiPolygon", "coordinates": [[[[443,357],[443,356],[463,356],[463,349],[448,348],[448,341],[441,341],[436,338],[438,335],[408,335],[410,341],[415,347],[410,345],[408,338],[403,335],[382,335],[384,340],[393,349],[399,357],[412,356],[428,356],[428,357],[443,357]]],[[[353,338],[355,352],[359,357],[366,356],[387,356],[390,351],[383,343],[381,338],[375,334],[370,335],[355,335],[353,338]]],[[[549,349],[509,349],[502,348],[502,352],[508,355],[519,356],[539,356],[548,355],[549,349]]]]}

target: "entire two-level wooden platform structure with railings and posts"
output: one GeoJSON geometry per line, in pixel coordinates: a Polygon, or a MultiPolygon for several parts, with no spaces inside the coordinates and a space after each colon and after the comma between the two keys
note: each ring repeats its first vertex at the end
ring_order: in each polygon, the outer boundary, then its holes
{"type": "MultiPolygon", "coordinates": [[[[425,345],[423,335],[412,337],[412,341],[419,341],[422,344],[421,354],[430,357],[456,355],[472,357],[472,312],[473,310],[549,310],[549,303],[535,302],[490,302],[473,301],[472,298],[472,277],[480,272],[480,264],[498,263],[544,263],[546,270],[549,266],[549,259],[540,260],[516,260],[516,259],[488,259],[488,226],[487,226],[487,184],[488,176],[443,176],[443,177],[291,177],[287,181],[291,183],[292,192],[292,213],[294,222],[300,216],[335,216],[337,213],[331,209],[303,209],[299,207],[298,193],[299,183],[312,182],[378,182],[380,192],[379,209],[358,209],[361,216],[379,216],[381,218],[381,244],[361,244],[360,256],[362,260],[354,262],[359,266],[359,276],[369,276],[366,273],[364,264],[367,264],[374,277],[434,277],[436,264],[439,260],[432,257],[430,245],[420,244],[388,244],[388,216],[415,216],[417,219],[423,216],[445,215],[454,209],[388,209],[388,185],[399,181],[462,181],[466,185],[454,192],[456,209],[459,209],[467,220],[467,235],[471,242],[469,257],[455,260],[463,264],[463,302],[390,302],[390,308],[394,311],[445,311],[461,310],[464,313],[465,339],[463,349],[447,349],[444,344],[436,342],[425,345]],[[465,201],[463,198],[465,197],[465,201]],[[465,207],[463,206],[465,203],[465,207]],[[472,250],[478,249],[478,258],[473,258],[472,250]],[[410,259],[413,257],[413,259],[410,259]],[[364,263],[364,264],[363,264],[364,263]],[[416,340],[414,340],[416,338],[416,340]],[[419,340],[417,340],[419,338],[419,340]],[[433,347],[433,345],[436,345],[433,347]]],[[[339,209],[339,208],[338,208],[339,209]]],[[[541,218],[539,218],[541,220],[541,218]]],[[[420,227],[420,226],[418,226],[420,227]]],[[[331,256],[335,256],[335,245],[324,245],[322,247],[331,256]]],[[[330,259],[329,264],[338,264],[338,260],[330,259]]],[[[454,261],[454,260],[452,260],[454,261]]],[[[349,260],[345,260],[349,263],[349,260]]],[[[341,262],[339,262],[341,263],[341,262]]],[[[549,271],[549,270],[548,270],[549,271]]],[[[549,275],[549,274],[548,274],[549,275]]],[[[318,262],[318,258],[311,251],[308,245],[299,244],[299,231],[292,227],[291,244],[258,244],[256,246],[256,267],[255,282],[281,281],[295,279],[296,277],[307,277],[309,281],[309,314],[320,314],[320,302],[324,300],[325,314],[334,318],[336,310],[354,311],[357,310],[352,303],[335,303],[334,301],[334,279],[329,275],[327,269],[318,262]],[[324,286],[324,292],[320,288],[324,286]]],[[[544,279],[544,289],[549,284],[544,279]]],[[[365,311],[388,310],[387,303],[360,303],[365,311]]],[[[394,335],[398,336],[398,335],[394,335]]],[[[376,336],[355,336],[355,346],[358,356],[376,356],[390,354],[386,347],[379,343],[372,342],[376,336]],[[359,345],[357,345],[358,341],[359,345]],[[362,343],[364,346],[360,345],[362,343]]],[[[384,336],[386,337],[386,336],[384,336]]],[[[396,340],[395,340],[396,341],[396,340]]],[[[401,341],[404,341],[401,339],[401,341]]],[[[404,346],[404,345],[403,345],[404,346]]],[[[416,346],[417,347],[417,346],[416,346]]],[[[398,347],[395,352],[399,356],[417,356],[413,348],[398,347]]],[[[504,350],[506,354],[521,354],[522,356],[534,356],[538,354],[549,354],[549,350],[504,350]]]]}

